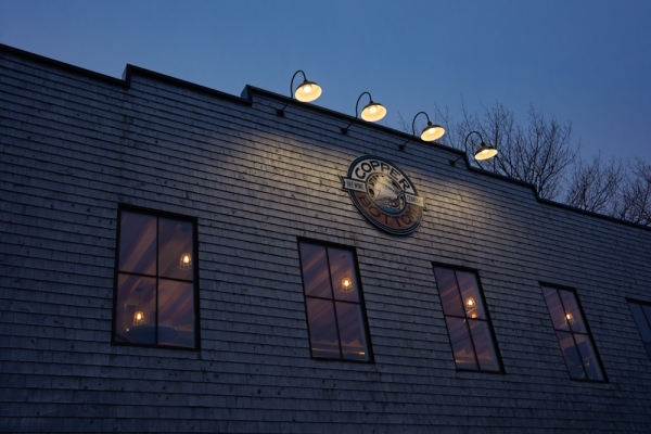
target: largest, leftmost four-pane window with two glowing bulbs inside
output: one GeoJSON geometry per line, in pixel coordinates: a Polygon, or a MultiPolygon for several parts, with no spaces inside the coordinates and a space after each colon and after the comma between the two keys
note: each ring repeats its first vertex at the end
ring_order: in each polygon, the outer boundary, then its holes
{"type": "Polygon", "coordinates": [[[195,225],[118,213],[113,342],[197,348],[195,225]]]}

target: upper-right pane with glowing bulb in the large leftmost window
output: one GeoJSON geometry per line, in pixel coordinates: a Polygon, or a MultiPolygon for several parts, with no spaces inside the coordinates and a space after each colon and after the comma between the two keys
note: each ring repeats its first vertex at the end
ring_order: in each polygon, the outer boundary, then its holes
{"type": "Polygon", "coordinates": [[[158,276],[193,280],[193,252],[191,222],[158,220],[158,276]]]}

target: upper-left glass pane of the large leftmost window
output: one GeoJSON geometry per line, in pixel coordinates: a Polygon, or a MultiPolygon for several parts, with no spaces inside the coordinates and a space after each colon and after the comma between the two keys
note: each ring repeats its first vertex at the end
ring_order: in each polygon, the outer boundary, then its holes
{"type": "Polygon", "coordinates": [[[156,217],[122,213],[118,270],[156,273],[156,217]]]}

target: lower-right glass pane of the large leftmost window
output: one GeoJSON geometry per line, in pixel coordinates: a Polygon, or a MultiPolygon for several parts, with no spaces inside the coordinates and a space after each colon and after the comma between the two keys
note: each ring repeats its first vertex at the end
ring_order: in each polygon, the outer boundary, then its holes
{"type": "Polygon", "coordinates": [[[158,344],[194,346],[194,285],[158,280],[158,344]]]}

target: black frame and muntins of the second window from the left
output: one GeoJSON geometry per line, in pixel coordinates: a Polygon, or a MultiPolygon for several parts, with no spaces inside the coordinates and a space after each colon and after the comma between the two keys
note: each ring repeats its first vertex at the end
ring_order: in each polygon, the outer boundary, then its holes
{"type": "MultiPolygon", "coordinates": [[[[333,242],[329,242],[329,241],[321,241],[321,240],[315,240],[315,239],[309,239],[309,238],[304,238],[304,237],[296,237],[296,253],[298,254],[298,271],[301,272],[301,292],[303,295],[303,307],[305,309],[305,324],[307,328],[307,344],[309,347],[310,358],[312,360],[322,360],[322,361],[344,361],[344,362],[353,362],[353,363],[374,365],[375,357],[373,354],[373,345],[371,344],[371,329],[369,327],[369,318],[368,318],[367,309],[366,309],[366,299],[363,297],[363,289],[362,289],[363,285],[361,284],[361,275],[359,272],[359,263],[357,261],[357,248],[354,246],[350,246],[350,245],[346,245],[346,244],[339,244],[339,243],[333,243],[333,242]],[[312,354],[312,344],[311,344],[312,341],[311,341],[311,334],[310,334],[310,330],[309,330],[309,318],[307,316],[308,315],[307,314],[307,297],[312,297],[312,296],[305,294],[305,278],[303,276],[303,258],[301,257],[301,243],[320,245],[326,248],[328,248],[328,247],[340,248],[340,250],[350,252],[353,254],[353,264],[355,266],[355,277],[357,279],[357,284],[359,285],[359,307],[361,309],[363,332],[365,332],[365,337],[366,337],[366,342],[367,342],[367,350],[368,350],[368,355],[369,355],[368,360],[355,360],[355,359],[343,358],[342,341],[341,341],[341,336],[340,336],[339,319],[336,317],[336,312],[334,315],[334,323],[336,326],[337,341],[339,341],[340,353],[342,354],[342,357],[318,357],[312,354]]],[[[330,276],[329,255],[327,254],[326,257],[328,258],[328,267],[329,267],[328,273],[330,276]]],[[[332,285],[332,276],[330,276],[330,278],[331,278],[331,285],[332,285]]],[[[332,289],[332,290],[334,290],[334,289],[332,289]]],[[[321,297],[312,297],[312,298],[329,299],[329,298],[321,298],[321,297]]],[[[332,302],[334,304],[335,299],[332,298],[332,302]]],[[[354,302],[344,302],[344,303],[354,303],[354,302]]]]}

